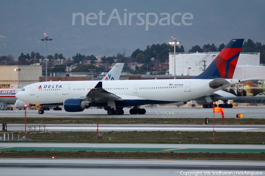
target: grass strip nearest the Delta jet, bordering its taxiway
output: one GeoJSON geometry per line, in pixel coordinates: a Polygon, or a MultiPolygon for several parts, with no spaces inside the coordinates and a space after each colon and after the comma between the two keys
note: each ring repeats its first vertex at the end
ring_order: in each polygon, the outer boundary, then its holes
{"type": "MultiPolygon", "coordinates": [[[[99,118],[100,124],[203,124],[204,118],[99,118]]],[[[24,117],[0,117],[0,123],[25,123],[24,117]]],[[[52,118],[52,117],[28,117],[28,124],[96,124],[97,118],[52,118]]],[[[209,119],[209,124],[213,120],[209,119]]],[[[264,125],[265,119],[236,119],[222,118],[214,119],[215,125],[264,125]]]]}

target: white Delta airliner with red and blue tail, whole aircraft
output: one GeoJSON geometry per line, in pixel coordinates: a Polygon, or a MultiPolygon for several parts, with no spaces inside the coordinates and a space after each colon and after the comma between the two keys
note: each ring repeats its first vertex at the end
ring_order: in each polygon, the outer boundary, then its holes
{"type": "Polygon", "coordinates": [[[238,84],[232,79],[244,39],[233,39],[208,68],[193,79],[54,81],[25,86],[16,94],[22,101],[46,106],[63,105],[67,112],[80,112],[91,106],[104,107],[109,115],[145,114],[145,104],[168,104],[205,96],[238,84]]]}

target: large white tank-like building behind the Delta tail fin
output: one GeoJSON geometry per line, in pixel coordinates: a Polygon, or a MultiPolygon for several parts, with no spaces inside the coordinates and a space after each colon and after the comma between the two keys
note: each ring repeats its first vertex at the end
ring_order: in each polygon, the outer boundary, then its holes
{"type": "MultiPolygon", "coordinates": [[[[200,75],[219,53],[176,53],[176,75],[200,75]]],[[[265,78],[265,65],[259,63],[260,53],[240,53],[233,78],[265,78]]],[[[169,53],[169,75],[174,75],[174,53],[169,53]]]]}

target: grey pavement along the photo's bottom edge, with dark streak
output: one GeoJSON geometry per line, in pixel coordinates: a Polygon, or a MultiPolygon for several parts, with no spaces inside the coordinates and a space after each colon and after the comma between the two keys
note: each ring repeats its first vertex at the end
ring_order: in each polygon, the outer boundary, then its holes
{"type": "MultiPolygon", "coordinates": [[[[1,159],[1,173],[5,175],[213,175],[214,172],[265,172],[261,161],[208,160],[125,160],[125,159],[1,159]],[[30,169],[30,172],[29,172],[30,169]],[[209,171],[209,172],[207,172],[209,171]]],[[[216,174],[217,175],[217,174],[216,174]]],[[[255,173],[254,173],[255,175],[255,173]]],[[[253,176],[253,174],[252,174],[253,176]]]]}

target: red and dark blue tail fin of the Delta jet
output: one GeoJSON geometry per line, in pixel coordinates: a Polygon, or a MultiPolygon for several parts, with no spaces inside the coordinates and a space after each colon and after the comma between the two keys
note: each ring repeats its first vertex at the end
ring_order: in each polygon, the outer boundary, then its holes
{"type": "Polygon", "coordinates": [[[233,78],[244,39],[232,39],[200,75],[192,79],[233,78]]]}

